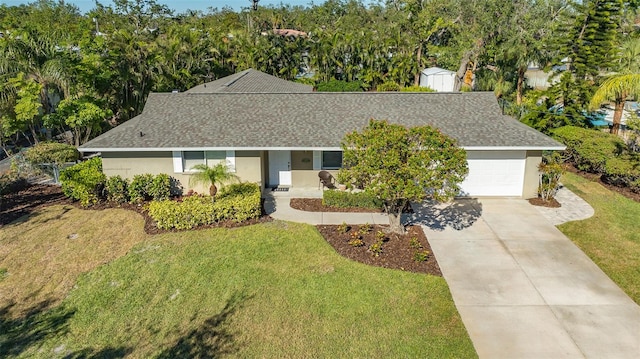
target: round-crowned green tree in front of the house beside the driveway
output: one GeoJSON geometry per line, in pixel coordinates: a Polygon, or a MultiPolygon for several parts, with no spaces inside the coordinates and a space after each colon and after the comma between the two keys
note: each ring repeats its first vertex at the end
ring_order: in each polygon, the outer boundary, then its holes
{"type": "Polygon", "coordinates": [[[338,180],[384,203],[390,230],[404,233],[402,210],[411,201],[452,199],[469,169],[456,141],[429,126],[406,128],[370,120],[342,141],[338,180]]]}

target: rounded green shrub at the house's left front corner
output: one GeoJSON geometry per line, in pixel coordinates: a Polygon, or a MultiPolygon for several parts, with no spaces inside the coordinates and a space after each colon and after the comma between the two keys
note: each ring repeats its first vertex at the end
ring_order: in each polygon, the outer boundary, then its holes
{"type": "Polygon", "coordinates": [[[106,181],[102,160],[94,157],[66,168],[60,172],[60,181],[65,196],[80,201],[83,206],[94,204],[100,199],[106,181]]]}

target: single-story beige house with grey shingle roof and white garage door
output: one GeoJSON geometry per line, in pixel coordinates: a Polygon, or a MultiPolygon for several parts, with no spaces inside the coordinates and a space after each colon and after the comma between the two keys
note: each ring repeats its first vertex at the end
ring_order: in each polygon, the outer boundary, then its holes
{"type": "MultiPolygon", "coordinates": [[[[207,86],[209,88],[209,86],[207,86]]],[[[262,187],[317,187],[340,142],[368,120],[431,125],[466,149],[463,195],[534,197],[542,151],[564,146],[502,115],[491,92],[152,93],[143,112],[87,142],[106,175],[167,173],[189,188],[198,163],[226,162],[262,187]]]]}

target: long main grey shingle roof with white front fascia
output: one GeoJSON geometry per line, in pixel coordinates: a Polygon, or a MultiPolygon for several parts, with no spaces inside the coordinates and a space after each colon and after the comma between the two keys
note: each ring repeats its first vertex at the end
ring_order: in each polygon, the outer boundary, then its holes
{"type": "Polygon", "coordinates": [[[152,93],[141,115],[84,152],[186,149],[338,149],[371,118],[431,125],[467,149],[563,149],[501,114],[492,92],[152,93]]]}

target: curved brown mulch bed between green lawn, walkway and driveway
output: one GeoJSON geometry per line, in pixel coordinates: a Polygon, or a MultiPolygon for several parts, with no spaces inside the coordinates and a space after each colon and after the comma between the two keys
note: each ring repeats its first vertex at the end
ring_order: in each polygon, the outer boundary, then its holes
{"type": "Polygon", "coordinates": [[[442,276],[438,261],[420,226],[408,227],[407,233],[404,235],[386,234],[382,243],[382,253],[379,256],[375,256],[369,250],[369,246],[377,241],[376,233],[378,231],[387,232],[387,226],[370,226],[369,233],[361,234],[364,245],[360,247],[350,245],[349,241],[352,240],[352,233],[361,233],[360,230],[363,226],[349,225],[346,233],[336,225],[318,225],[316,227],[324,239],[343,257],[376,267],[442,276]],[[420,248],[411,247],[412,238],[419,243],[420,248]],[[424,262],[415,261],[416,251],[424,250],[428,251],[427,260],[424,262]]]}

